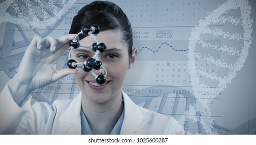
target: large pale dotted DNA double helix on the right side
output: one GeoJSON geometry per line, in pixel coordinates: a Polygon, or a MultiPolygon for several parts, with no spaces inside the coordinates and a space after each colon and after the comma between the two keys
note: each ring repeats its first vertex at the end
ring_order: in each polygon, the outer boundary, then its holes
{"type": "MultiPolygon", "coordinates": [[[[188,42],[188,49],[190,51],[188,51],[187,56],[192,89],[197,99],[179,119],[181,124],[184,125],[187,120],[193,120],[201,124],[206,134],[218,134],[214,129],[214,121],[211,117],[211,109],[209,108],[209,103],[216,97],[216,94],[209,92],[223,91],[244,65],[252,40],[252,19],[250,19],[250,11],[251,7],[248,1],[228,0],[208,13],[208,16],[204,20],[200,20],[198,22],[199,24],[193,28],[188,42]],[[239,10],[240,18],[228,16],[228,12],[233,10],[239,10]],[[223,23],[231,26],[241,26],[243,32],[229,33],[224,32],[220,28],[209,27],[209,25],[223,23]],[[221,46],[217,43],[210,44],[202,39],[204,36],[206,38],[217,37],[224,39],[225,42],[230,43],[228,44],[230,46],[224,42],[221,46]],[[237,42],[242,45],[232,45],[237,44],[237,42]],[[201,53],[204,49],[221,52],[224,55],[224,59],[221,60],[211,54],[205,55],[201,53]],[[228,61],[230,58],[232,58],[233,62],[228,61]],[[207,62],[209,65],[217,66],[221,71],[209,72],[197,65],[197,62],[207,62]],[[217,86],[212,87],[203,83],[202,78],[216,81],[217,86]]],[[[167,129],[167,134],[168,130],[171,129],[167,129]]],[[[187,130],[186,134],[190,134],[189,130],[187,130]]]]}

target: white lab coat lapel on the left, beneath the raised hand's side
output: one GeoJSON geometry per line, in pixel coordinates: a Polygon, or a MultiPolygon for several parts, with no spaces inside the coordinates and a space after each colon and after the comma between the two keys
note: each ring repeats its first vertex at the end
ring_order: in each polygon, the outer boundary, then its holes
{"type": "MultiPolygon", "coordinates": [[[[59,105],[59,109],[66,110],[60,115],[59,121],[53,125],[53,134],[81,134],[81,93],[79,93],[71,103],[66,105],[59,105]]],[[[58,108],[57,108],[58,112],[58,108]]]]}

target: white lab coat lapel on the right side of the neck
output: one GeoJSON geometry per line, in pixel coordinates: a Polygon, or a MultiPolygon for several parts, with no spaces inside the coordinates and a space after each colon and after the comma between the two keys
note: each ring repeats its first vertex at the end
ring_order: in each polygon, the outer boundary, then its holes
{"type": "Polygon", "coordinates": [[[140,129],[148,121],[140,108],[123,92],[125,117],[120,134],[140,134],[140,129]]]}

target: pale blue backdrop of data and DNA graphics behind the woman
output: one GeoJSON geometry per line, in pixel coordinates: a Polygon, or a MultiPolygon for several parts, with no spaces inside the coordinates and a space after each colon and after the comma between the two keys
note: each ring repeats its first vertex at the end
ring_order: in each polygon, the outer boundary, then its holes
{"type": "MultiPolygon", "coordinates": [[[[1,1],[1,9],[6,8],[5,2],[1,1]]],[[[39,27],[18,20],[14,3],[1,13],[14,17],[0,20],[0,90],[18,71],[35,34],[55,38],[68,34],[78,10],[92,1],[72,1],[63,12],[64,4],[59,1],[42,1],[44,10],[36,2],[29,8],[25,1],[16,2],[24,16],[29,17],[29,9],[33,9],[42,21],[61,17],[39,27]]],[[[239,1],[111,2],[126,13],[132,25],[133,47],[138,49],[136,64],[128,70],[123,85],[134,103],[172,116],[186,134],[256,134],[255,1],[241,1],[250,12],[247,20],[239,7],[232,8],[239,1]],[[252,25],[247,21],[253,21],[252,25]],[[252,32],[244,36],[247,30],[252,32]],[[249,46],[244,39],[251,40],[249,46]]],[[[67,67],[67,61],[64,53],[57,68],[67,67]]],[[[32,103],[51,104],[56,99],[72,99],[79,92],[74,76],[69,75],[33,91],[32,103]]]]}

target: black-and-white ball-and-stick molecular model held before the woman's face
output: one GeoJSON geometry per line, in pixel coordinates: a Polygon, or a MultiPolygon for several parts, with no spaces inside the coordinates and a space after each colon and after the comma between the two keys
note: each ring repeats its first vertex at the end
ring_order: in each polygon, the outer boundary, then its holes
{"type": "Polygon", "coordinates": [[[104,52],[106,50],[106,45],[102,42],[98,41],[98,34],[100,33],[100,27],[98,25],[85,25],[82,30],[75,36],[75,38],[73,40],[70,41],[69,45],[70,45],[70,53],[69,53],[69,61],[67,63],[69,68],[82,68],[85,72],[89,72],[93,77],[95,77],[96,82],[99,85],[102,85],[105,83],[106,81],[106,75],[107,75],[107,71],[106,69],[102,66],[101,61],[98,58],[99,53],[104,52]],[[96,42],[93,43],[91,46],[86,47],[86,46],[80,46],[79,41],[77,40],[77,37],[79,34],[84,34],[84,35],[90,35],[92,36],[96,42]],[[93,57],[90,57],[87,61],[85,62],[81,62],[81,63],[77,63],[75,60],[71,59],[71,53],[72,50],[75,50],[78,47],[83,47],[83,48],[90,48],[91,50],[93,50],[95,52],[95,55],[93,57]],[[78,66],[78,65],[82,65],[82,66],[78,66]],[[104,75],[100,74],[100,75],[96,75],[92,69],[104,69],[105,73],[104,75]]]}

